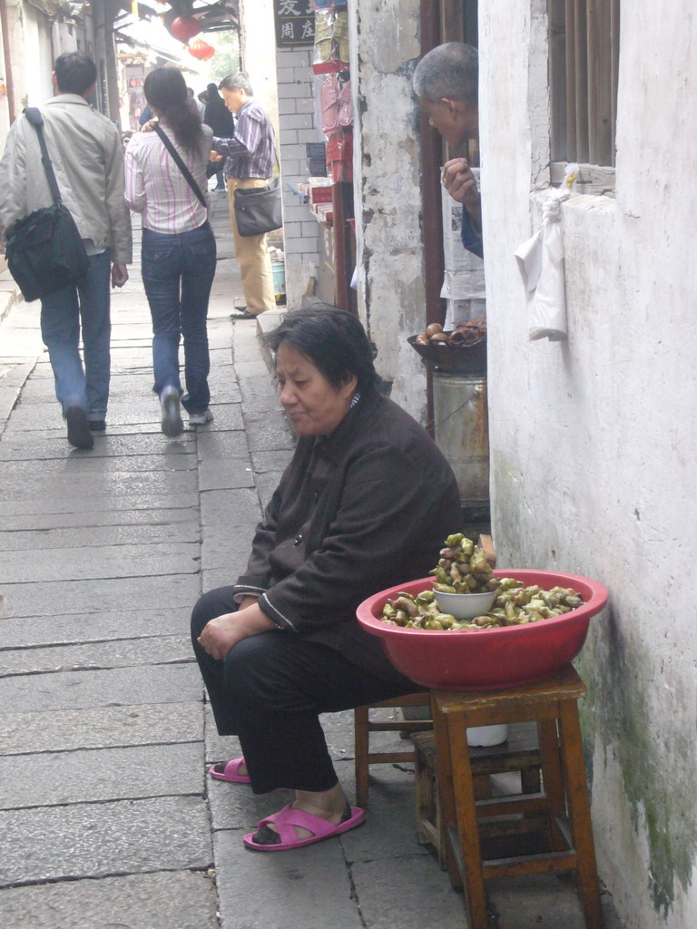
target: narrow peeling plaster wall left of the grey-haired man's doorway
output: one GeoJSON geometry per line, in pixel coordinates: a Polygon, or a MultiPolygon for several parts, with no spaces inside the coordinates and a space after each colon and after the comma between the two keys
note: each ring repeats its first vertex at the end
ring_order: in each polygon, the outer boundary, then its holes
{"type": "Polygon", "coordinates": [[[357,0],[349,14],[359,311],[377,347],[377,370],[393,382],[392,398],[423,420],[426,376],[406,342],[423,329],[426,316],[418,108],[411,83],[419,57],[419,3],[357,0]]]}

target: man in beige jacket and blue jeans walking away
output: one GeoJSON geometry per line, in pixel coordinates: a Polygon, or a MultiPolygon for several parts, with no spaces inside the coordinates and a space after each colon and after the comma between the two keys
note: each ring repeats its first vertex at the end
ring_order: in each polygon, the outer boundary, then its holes
{"type": "MultiPolygon", "coordinates": [[[[87,102],[97,80],[81,52],[54,64],[56,97],[40,108],[46,149],[62,202],[85,243],[88,266],[74,284],[41,298],[41,334],[56,379],[68,441],[91,449],[106,428],[111,373],[110,283],[123,287],[132,260],[131,224],[124,200],[124,152],[118,129],[87,102]],[[78,344],[82,323],[83,368],[78,344]]],[[[0,161],[0,224],[49,206],[53,197],[36,129],[26,116],[12,125],[0,161]]]]}

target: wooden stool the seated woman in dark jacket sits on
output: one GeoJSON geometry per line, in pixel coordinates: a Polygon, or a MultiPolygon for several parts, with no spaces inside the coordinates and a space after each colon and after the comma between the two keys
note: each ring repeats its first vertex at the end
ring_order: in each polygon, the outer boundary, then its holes
{"type": "Polygon", "coordinates": [[[406,694],[395,697],[393,700],[383,700],[381,703],[371,703],[368,706],[359,706],[353,711],[353,725],[355,726],[355,771],[356,771],[356,805],[362,809],[368,808],[368,779],[370,765],[394,765],[414,761],[414,746],[404,752],[371,752],[371,732],[423,732],[430,729],[433,724],[427,720],[393,719],[385,722],[374,722],[370,718],[370,711],[384,707],[401,706],[428,706],[430,697],[428,691],[406,694]]]}

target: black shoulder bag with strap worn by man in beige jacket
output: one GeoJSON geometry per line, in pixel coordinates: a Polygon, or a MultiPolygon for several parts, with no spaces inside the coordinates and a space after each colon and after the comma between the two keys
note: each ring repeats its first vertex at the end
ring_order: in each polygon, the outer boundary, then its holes
{"type": "Polygon", "coordinates": [[[41,161],[54,201],[52,206],[16,220],[6,231],[7,266],[29,301],[75,284],[85,276],[89,260],[75,220],[60,198],[46,150],[41,112],[36,107],[27,107],[24,112],[39,137],[41,161]]]}

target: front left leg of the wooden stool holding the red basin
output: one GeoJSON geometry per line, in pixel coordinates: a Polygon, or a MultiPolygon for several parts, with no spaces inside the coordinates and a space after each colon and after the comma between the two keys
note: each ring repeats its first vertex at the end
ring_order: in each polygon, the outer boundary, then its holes
{"type": "Polygon", "coordinates": [[[477,821],[474,779],[469,765],[465,718],[463,714],[452,713],[448,715],[447,720],[451,770],[458,772],[457,777],[453,778],[453,790],[457,810],[457,834],[465,872],[469,929],[487,929],[489,920],[481,870],[480,827],[477,821]]]}

